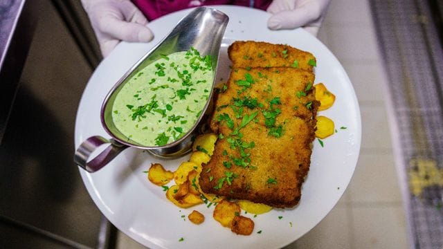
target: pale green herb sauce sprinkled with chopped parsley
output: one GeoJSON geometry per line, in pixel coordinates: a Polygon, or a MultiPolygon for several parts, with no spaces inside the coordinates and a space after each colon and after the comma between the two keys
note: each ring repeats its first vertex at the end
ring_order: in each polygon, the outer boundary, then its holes
{"type": "Polygon", "coordinates": [[[120,90],[112,107],[117,129],[145,146],[178,140],[194,126],[215,77],[208,55],[194,48],[163,55],[120,90]]]}

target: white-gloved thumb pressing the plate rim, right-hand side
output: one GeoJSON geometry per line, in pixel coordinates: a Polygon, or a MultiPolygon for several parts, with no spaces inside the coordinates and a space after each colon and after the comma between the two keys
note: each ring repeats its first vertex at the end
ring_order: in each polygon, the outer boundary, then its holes
{"type": "Polygon", "coordinates": [[[320,11],[309,6],[302,6],[294,10],[284,10],[269,17],[268,28],[271,30],[294,29],[305,26],[320,18],[320,11]]]}

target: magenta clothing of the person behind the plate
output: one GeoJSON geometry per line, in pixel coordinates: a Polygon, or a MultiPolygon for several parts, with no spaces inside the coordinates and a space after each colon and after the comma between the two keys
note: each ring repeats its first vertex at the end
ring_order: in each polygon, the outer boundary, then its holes
{"type": "MultiPolygon", "coordinates": [[[[145,14],[145,17],[152,21],[163,15],[183,10],[186,8],[193,8],[197,6],[211,6],[230,4],[237,6],[249,6],[249,0],[132,0],[132,2],[145,14]]],[[[266,10],[271,0],[255,0],[253,1],[253,8],[260,8],[266,10]]]]}

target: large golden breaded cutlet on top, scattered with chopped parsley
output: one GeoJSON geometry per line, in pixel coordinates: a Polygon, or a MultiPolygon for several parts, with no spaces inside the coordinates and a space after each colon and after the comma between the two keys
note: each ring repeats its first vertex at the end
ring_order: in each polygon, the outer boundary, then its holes
{"type": "Polygon", "coordinates": [[[220,134],[199,183],[206,193],[287,208],[309,170],[318,102],[314,74],[233,68],[210,123],[220,134]]]}

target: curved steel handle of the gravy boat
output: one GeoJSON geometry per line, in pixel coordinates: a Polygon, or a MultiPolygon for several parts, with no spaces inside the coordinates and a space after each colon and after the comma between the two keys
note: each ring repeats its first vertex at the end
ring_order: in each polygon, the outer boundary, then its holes
{"type": "Polygon", "coordinates": [[[78,147],[74,154],[74,162],[87,172],[96,172],[98,169],[105,167],[112,159],[128,146],[117,142],[114,139],[106,139],[102,136],[91,136],[78,147]],[[109,143],[108,147],[100,152],[98,156],[88,162],[89,157],[98,147],[109,143]]]}

